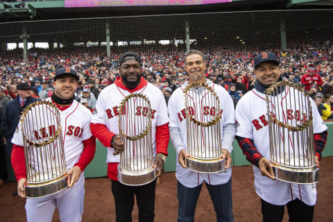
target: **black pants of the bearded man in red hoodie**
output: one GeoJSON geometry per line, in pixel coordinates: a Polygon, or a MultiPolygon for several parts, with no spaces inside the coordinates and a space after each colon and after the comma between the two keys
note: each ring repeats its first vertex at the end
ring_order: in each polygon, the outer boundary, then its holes
{"type": "Polygon", "coordinates": [[[115,180],[111,181],[117,222],[132,221],[134,195],[137,198],[137,207],[139,208],[139,222],[154,221],[156,180],[148,185],[135,187],[123,185],[115,180]]]}

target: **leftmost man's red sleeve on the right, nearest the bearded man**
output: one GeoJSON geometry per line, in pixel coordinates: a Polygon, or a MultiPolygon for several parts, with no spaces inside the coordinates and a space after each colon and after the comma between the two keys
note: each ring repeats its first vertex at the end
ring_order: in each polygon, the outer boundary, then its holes
{"type": "Polygon", "coordinates": [[[83,140],[83,153],[81,154],[80,159],[74,166],[80,167],[81,171],[85,170],[85,167],[92,162],[94,159],[95,151],[96,151],[96,138],[94,136],[89,139],[83,140]]]}

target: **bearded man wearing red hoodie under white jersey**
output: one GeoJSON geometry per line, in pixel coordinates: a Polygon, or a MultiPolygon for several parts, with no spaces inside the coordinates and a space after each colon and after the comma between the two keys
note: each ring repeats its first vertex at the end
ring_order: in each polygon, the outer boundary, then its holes
{"type": "MultiPolygon", "coordinates": [[[[163,172],[165,157],[168,155],[169,117],[167,105],[161,90],[142,77],[142,60],[136,53],[123,53],[119,59],[121,77],[114,84],[105,87],[96,102],[96,114],[92,117],[92,134],[108,148],[108,178],[112,181],[112,194],[116,207],[116,221],[132,221],[135,196],[139,208],[139,221],[154,221],[156,180],[142,186],[123,185],[117,179],[117,166],[123,151],[119,136],[119,106],[130,94],[143,94],[151,103],[151,130],[157,176],[163,172]]],[[[135,108],[140,114],[145,108],[135,108]]]]}

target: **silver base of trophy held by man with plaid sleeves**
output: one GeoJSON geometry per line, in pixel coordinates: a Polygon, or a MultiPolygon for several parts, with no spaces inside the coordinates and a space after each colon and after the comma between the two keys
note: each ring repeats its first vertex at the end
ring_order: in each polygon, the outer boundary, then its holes
{"type": "Polygon", "coordinates": [[[313,184],[319,182],[319,169],[289,169],[273,164],[274,176],[278,180],[297,184],[313,184]]]}

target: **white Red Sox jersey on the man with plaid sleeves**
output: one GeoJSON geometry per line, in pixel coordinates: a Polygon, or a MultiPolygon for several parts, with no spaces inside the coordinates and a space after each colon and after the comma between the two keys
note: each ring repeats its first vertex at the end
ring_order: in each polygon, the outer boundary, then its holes
{"type": "MultiPolygon", "coordinates": [[[[306,114],[302,112],[302,105],[298,103],[300,99],[297,95],[293,97],[293,91],[289,92],[289,87],[286,87],[284,92],[279,95],[280,101],[286,99],[289,103],[289,110],[282,110],[281,104],[276,104],[273,101],[270,103],[270,108],[277,119],[282,120],[284,123],[289,123],[296,126],[296,121],[305,119],[306,114]],[[289,95],[290,94],[290,95],[289,95]],[[290,97],[289,97],[290,96],[290,97]],[[289,97],[289,98],[288,98],[289,97]],[[292,102],[290,102],[292,101],[292,102]],[[291,106],[290,106],[291,103],[291,106]]],[[[264,157],[270,160],[270,142],[269,142],[269,129],[267,117],[266,94],[262,94],[253,89],[247,92],[237,103],[236,107],[236,121],[238,122],[237,133],[239,137],[253,139],[254,146],[257,151],[264,157]]],[[[314,133],[323,133],[327,126],[319,115],[316,103],[312,99],[311,109],[313,116],[314,133]]],[[[285,135],[284,142],[286,147],[297,146],[296,137],[293,138],[292,133],[285,135]],[[288,138],[287,138],[288,137],[288,138]]],[[[292,149],[291,149],[292,150],[292,149]]],[[[296,150],[296,149],[294,149],[296,150]]],[[[273,205],[285,205],[289,201],[298,198],[307,205],[314,205],[316,203],[316,185],[299,185],[281,180],[271,180],[266,176],[262,176],[258,167],[253,165],[255,173],[255,190],[257,194],[267,203],[273,205]]]]}

